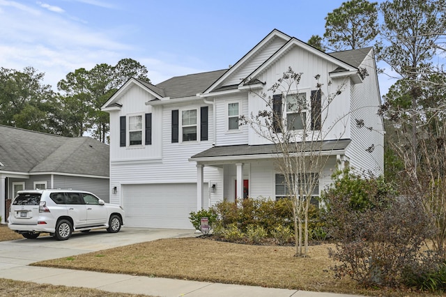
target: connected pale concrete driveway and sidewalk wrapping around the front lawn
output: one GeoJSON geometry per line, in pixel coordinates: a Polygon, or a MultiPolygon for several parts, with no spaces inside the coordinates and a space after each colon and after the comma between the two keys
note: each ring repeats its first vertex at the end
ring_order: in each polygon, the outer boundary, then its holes
{"type": "Polygon", "coordinates": [[[108,234],[107,231],[73,234],[68,241],[54,241],[49,236],[32,241],[26,239],[3,241],[0,242],[0,277],[41,284],[86,287],[110,292],[166,297],[353,296],[29,266],[36,261],[70,257],[75,254],[95,252],[131,243],[196,235],[193,230],[123,228],[117,234],[108,234]]]}

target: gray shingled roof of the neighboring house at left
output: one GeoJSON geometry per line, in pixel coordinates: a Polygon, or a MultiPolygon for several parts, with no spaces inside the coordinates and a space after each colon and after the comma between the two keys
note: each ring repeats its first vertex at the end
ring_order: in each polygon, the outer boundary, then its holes
{"type": "Polygon", "coordinates": [[[0,172],[109,176],[109,146],[91,137],[62,137],[0,125],[0,139],[0,172]]]}

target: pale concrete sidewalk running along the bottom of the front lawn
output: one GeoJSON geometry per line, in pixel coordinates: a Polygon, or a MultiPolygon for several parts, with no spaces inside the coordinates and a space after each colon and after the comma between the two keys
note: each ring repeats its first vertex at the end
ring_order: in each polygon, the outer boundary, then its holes
{"type": "Polygon", "coordinates": [[[353,296],[324,292],[273,289],[241,286],[238,284],[217,284],[190,280],[173,280],[160,277],[145,277],[70,269],[16,266],[1,269],[0,277],[11,280],[56,284],[68,287],[94,288],[109,292],[146,294],[165,297],[341,297],[353,296]]]}

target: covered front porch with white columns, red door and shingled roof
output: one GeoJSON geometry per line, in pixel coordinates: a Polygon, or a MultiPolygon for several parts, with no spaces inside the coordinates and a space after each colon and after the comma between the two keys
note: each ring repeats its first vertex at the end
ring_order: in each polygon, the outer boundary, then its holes
{"type": "MultiPolygon", "coordinates": [[[[349,143],[350,139],[321,142],[318,153],[328,158],[319,176],[319,189],[330,184],[332,172],[348,161],[345,151],[349,143]]],[[[274,144],[214,146],[192,156],[190,161],[197,162],[197,211],[223,199],[276,199],[279,196],[276,179],[280,174],[276,165],[280,156],[274,144]],[[205,176],[206,167],[216,168],[218,174],[205,176]],[[208,184],[208,188],[203,184],[208,184]],[[209,202],[205,203],[204,199],[209,202]]]]}

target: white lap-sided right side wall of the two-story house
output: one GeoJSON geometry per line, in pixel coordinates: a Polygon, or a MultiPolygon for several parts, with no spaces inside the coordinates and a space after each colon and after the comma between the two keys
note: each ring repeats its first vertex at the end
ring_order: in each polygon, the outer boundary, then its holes
{"type": "Polygon", "coordinates": [[[346,155],[351,160],[351,167],[358,172],[372,172],[379,176],[384,172],[384,128],[383,119],[378,116],[380,94],[376,86],[378,81],[374,72],[374,59],[368,56],[360,67],[366,68],[369,75],[362,84],[351,86],[351,144],[346,155]],[[356,120],[364,121],[359,128],[356,120]],[[371,128],[369,130],[368,128],[371,128]],[[373,146],[369,153],[367,148],[373,146]]]}

